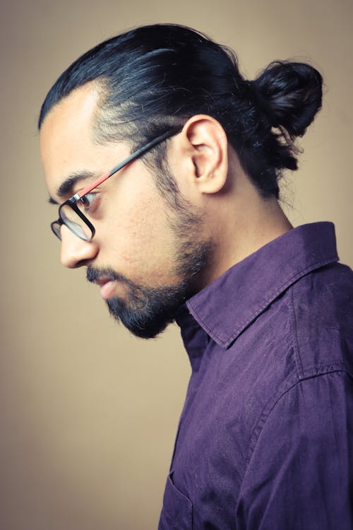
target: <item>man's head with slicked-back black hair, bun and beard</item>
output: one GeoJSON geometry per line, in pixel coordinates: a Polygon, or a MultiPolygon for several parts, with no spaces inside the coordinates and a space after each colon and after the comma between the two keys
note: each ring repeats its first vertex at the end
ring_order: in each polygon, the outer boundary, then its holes
{"type": "Polygon", "coordinates": [[[63,263],[88,266],[114,316],[139,336],[155,336],[224,269],[229,197],[246,189],[252,202],[277,198],[282,169],[297,167],[289,137],[313,119],[319,84],[316,71],[297,63],[270,65],[256,83],[244,81],[229,50],[177,25],[137,28],[84,54],[40,113],[56,203],[131,151],[175,135],[80,199],[95,236],[81,240],[63,226],[63,263]]]}

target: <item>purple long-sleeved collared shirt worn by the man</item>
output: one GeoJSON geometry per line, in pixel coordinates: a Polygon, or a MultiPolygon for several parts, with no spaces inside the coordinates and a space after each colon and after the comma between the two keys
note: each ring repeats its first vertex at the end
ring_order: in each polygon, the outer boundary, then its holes
{"type": "Polygon", "coordinates": [[[181,309],[192,375],[159,530],[353,529],[353,273],[300,226],[181,309]]]}

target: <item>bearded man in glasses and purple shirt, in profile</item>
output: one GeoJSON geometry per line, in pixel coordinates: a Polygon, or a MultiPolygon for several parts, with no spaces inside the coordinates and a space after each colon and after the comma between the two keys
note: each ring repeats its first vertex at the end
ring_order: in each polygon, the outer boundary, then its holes
{"type": "Polygon", "coordinates": [[[291,62],[245,81],[229,50],[153,25],[42,106],[62,263],[137,336],[177,319],[191,360],[160,529],[353,527],[353,275],[331,223],[293,229],[277,200],[321,82],[291,62]]]}

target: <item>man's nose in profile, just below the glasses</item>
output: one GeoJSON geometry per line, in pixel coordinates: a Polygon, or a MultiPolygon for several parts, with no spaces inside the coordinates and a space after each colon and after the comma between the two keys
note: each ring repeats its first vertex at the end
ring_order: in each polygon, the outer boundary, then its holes
{"type": "Polygon", "coordinates": [[[97,256],[97,243],[81,240],[66,226],[61,226],[61,264],[69,269],[86,265],[97,256]]]}

